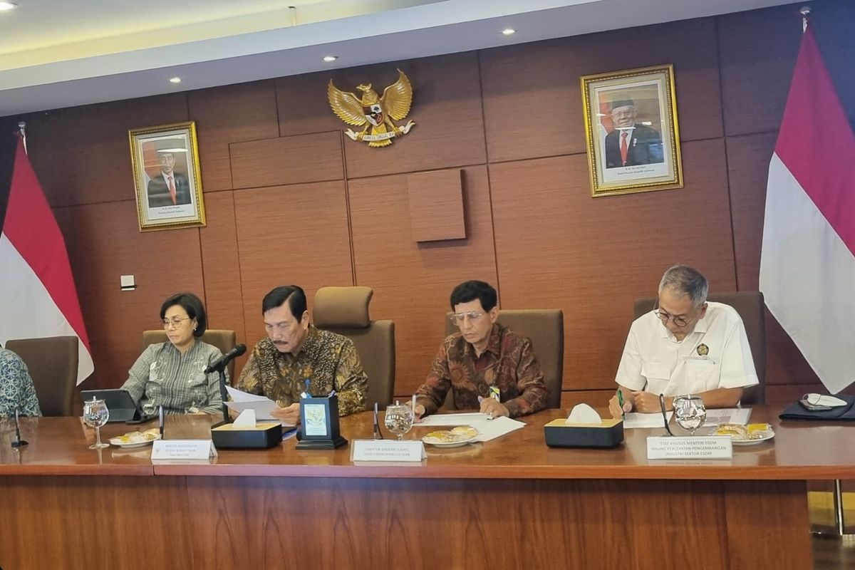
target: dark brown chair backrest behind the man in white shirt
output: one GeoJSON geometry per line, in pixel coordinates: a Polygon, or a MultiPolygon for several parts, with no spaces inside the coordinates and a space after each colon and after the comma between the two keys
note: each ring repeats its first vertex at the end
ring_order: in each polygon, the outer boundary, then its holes
{"type": "MultiPolygon", "coordinates": [[[[656,297],[644,297],[635,300],[635,318],[653,310],[656,297]]],[[[762,404],[766,402],[766,305],[760,291],[734,291],[715,293],[707,296],[707,301],[730,305],[742,317],[746,327],[748,344],[754,368],[757,370],[759,384],[746,388],[741,402],[744,404],[762,404]]]]}

